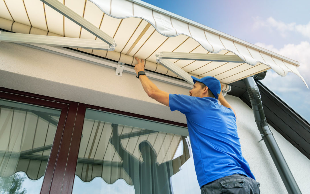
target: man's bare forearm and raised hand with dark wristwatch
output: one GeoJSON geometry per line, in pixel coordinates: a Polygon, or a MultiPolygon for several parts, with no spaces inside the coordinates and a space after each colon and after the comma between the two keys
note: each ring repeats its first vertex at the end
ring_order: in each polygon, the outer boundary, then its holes
{"type": "MultiPolygon", "coordinates": [[[[139,71],[144,71],[144,60],[135,58],[138,61],[138,64],[135,65],[135,71],[138,75],[139,71]]],[[[164,92],[157,88],[157,86],[148,79],[146,75],[139,75],[139,80],[142,84],[144,91],[148,94],[149,97],[153,98],[157,102],[162,103],[163,105],[169,106],[169,93],[164,92]]]]}

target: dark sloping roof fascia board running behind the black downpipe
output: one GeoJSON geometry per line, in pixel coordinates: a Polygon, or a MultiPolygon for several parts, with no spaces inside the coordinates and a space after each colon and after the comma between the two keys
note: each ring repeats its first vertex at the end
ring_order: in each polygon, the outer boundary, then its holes
{"type": "MultiPolygon", "coordinates": [[[[229,95],[239,97],[249,107],[250,99],[242,80],[229,84],[229,95]]],[[[268,124],[310,159],[310,124],[261,82],[257,82],[268,124]]]]}

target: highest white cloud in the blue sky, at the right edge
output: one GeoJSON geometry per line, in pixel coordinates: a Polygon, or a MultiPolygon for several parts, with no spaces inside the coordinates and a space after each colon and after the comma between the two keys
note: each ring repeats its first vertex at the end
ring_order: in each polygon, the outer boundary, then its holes
{"type": "Polygon", "coordinates": [[[267,28],[269,32],[277,30],[282,37],[287,37],[289,32],[297,32],[303,36],[310,38],[310,22],[306,25],[292,23],[284,23],[277,21],[273,17],[269,17],[267,20],[263,20],[260,17],[254,18],[253,29],[267,28]]]}

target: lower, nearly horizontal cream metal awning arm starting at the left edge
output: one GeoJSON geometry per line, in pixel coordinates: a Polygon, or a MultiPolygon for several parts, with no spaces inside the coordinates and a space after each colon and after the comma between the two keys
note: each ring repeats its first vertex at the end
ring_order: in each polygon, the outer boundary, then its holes
{"type": "Polygon", "coordinates": [[[11,43],[40,44],[57,47],[78,47],[97,50],[108,50],[109,46],[100,40],[68,38],[35,34],[0,32],[0,41],[11,43]]]}

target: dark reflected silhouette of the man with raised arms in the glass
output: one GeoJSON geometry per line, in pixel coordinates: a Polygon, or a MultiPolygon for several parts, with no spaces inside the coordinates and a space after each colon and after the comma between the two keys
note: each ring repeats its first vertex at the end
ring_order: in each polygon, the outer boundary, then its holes
{"type": "MultiPolygon", "coordinates": [[[[179,171],[179,167],[189,158],[188,147],[184,146],[183,155],[173,160],[159,164],[157,153],[147,140],[139,143],[139,150],[143,162],[131,155],[122,146],[118,135],[118,124],[112,124],[112,137],[110,139],[118,155],[123,160],[123,168],[132,179],[135,193],[171,193],[170,177],[179,171]]],[[[182,137],[186,145],[185,137],[182,137]]]]}

